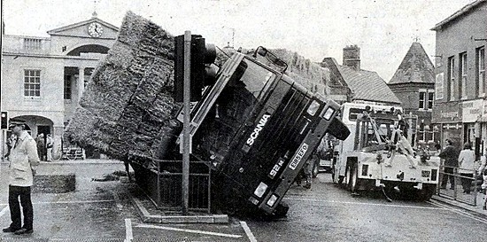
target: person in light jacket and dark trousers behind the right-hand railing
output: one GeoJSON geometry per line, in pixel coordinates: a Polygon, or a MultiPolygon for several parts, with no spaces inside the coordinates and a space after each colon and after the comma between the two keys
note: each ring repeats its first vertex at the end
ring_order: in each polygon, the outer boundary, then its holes
{"type": "Polygon", "coordinates": [[[472,179],[475,172],[475,152],[472,151],[472,144],[463,144],[463,150],[459,156],[459,170],[461,176],[461,186],[463,187],[463,193],[470,194],[472,187],[472,179]]]}

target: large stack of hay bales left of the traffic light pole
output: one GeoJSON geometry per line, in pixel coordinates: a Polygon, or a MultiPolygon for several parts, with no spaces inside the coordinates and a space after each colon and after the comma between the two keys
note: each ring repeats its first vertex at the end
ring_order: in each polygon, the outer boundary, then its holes
{"type": "Polygon", "coordinates": [[[156,157],[174,138],[179,106],[172,98],[174,37],[128,12],[120,33],[91,76],[66,137],[126,160],[156,157]]]}

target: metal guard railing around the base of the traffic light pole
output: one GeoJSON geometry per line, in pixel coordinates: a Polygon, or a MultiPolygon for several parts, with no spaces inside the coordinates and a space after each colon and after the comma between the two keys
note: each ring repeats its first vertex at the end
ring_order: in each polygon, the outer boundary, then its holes
{"type": "MultiPolygon", "coordinates": [[[[182,160],[151,161],[151,169],[139,170],[135,179],[143,181],[137,183],[158,209],[182,211],[182,160]]],[[[211,173],[205,161],[189,162],[189,211],[211,212],[211,173]]]]}

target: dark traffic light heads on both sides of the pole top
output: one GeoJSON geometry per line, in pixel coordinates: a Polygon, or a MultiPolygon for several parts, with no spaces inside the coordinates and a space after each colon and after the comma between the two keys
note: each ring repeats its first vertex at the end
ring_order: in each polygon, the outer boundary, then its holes
{"type": "MultiPolygon", "coordinates": [[[[201,35],[191,35],[191,70],[190,93],[191,102],[202,98],[205,85],[214,82],[215,72],[210,64],[216,59],[216,49],[213,44],[205,44],[201,35]]],[[[184,35],[174,38],[174,100],[182,102],[184,93],[184,35]]]]}

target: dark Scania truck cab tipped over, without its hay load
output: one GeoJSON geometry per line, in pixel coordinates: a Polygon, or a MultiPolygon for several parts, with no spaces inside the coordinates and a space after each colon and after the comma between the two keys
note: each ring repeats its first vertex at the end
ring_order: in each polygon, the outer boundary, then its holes
{"type": "Polygon", "coordinates": [[[282,198],[325,133],[350,134],[336,118],[340,105],[286,68],[263,47],[253,56],[236,52],[192,108],[191,160],[209,161],[212,204],[228,213],[285,215],[282,198]]]}

